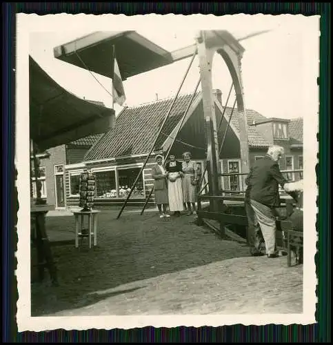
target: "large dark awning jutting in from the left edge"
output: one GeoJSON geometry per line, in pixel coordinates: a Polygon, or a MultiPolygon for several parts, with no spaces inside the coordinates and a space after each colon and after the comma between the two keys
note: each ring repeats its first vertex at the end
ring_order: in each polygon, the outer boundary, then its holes
{"type": "Polygon", "coordinates": [[[114,110],[62,88],[29,57],[30,139],[39,150],[68,144],[114,127],[114,110]]]}

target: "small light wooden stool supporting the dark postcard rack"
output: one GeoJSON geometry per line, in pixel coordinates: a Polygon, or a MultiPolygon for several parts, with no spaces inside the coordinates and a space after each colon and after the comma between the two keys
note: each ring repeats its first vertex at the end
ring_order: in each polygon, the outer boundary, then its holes
{"type": "Polygon", "coordinates": [[[97,214],[98,210],[81,211],[72,210],[75,217],[75,248],[79,247],[79,237],[88,237],[89,248],[91,248],[92,237],[94,237],[94,246],[97,246],[97,214]],[[84,217],[88,216],[88,233],[83,230],[84,217]]]}

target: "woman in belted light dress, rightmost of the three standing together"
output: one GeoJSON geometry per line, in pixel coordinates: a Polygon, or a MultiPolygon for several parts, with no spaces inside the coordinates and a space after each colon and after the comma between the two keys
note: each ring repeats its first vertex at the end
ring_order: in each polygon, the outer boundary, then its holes
{"type": "Polygon", "coordinates": [[[191,153],[184,153],[183,170],[183,202],[188,204],[188,215],[196,213],[196,186],[198,184],[197,168],[194,161],[191,160],[191,153]],[[191,209],[192,206],[192,209],[191,209]]]}

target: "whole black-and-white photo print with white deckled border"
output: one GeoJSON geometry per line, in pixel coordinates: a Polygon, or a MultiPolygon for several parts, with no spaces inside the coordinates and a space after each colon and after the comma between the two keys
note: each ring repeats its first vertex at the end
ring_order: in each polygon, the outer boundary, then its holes
{"type": "Polygon", "coordinates": [[[315,322],[319,37],[17,14],[19,331],[315,322]]]}

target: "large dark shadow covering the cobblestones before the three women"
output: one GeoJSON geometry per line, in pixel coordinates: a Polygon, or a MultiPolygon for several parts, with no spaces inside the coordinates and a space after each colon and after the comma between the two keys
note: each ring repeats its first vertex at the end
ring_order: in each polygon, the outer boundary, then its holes
{"type": "MultiPolygon", "coordinates": [[[[103,210],[99,215],[96,248],[89,250],[87,242],[77,249],[52,246],[60,286],[32,284],[32,316],[81,308],[108,297],[90,295],[97,290],[249,255],[247,246],[223,241],[196,226],[193,216],[160,219],[152,212],[123,213],[116,219],[117,214],[118,210],[103,210]]],[[[46,226],[49,233],[74,236],[73,217],[47,217],[46,226]]],[[[32,250],[32,262],[34,255],[32,250]]]]}

